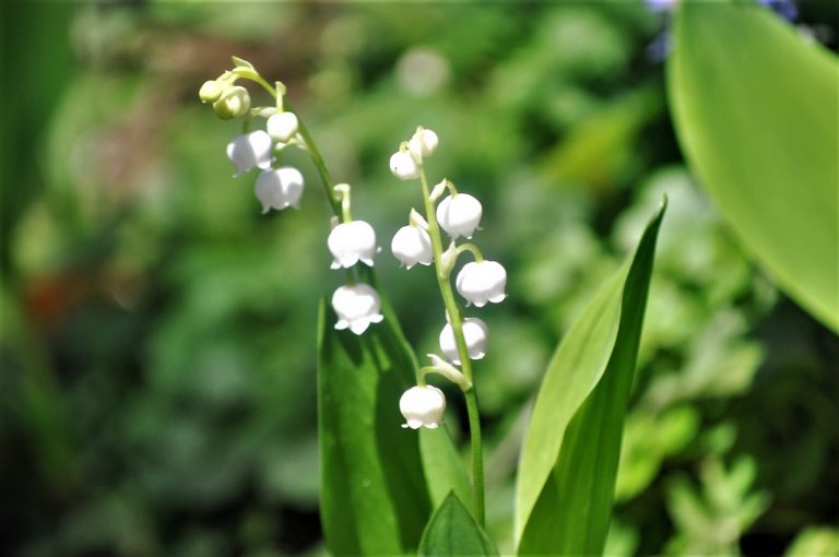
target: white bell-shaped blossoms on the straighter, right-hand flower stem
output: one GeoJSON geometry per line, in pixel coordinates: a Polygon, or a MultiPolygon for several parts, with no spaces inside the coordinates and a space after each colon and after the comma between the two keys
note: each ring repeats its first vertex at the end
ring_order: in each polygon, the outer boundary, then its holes
{"type": "MultiPolygon", "coordinates": [[[[417,128],[416,133],[400,150],[390,157],[390,170],[401,180],[423,178],[423,161],[437,150],[439,139],[428,129],[417,128]]],[[[424,182],[425,183],[425,182],[424,182]]],[[[436,223],[451,238],[449,248],[440,254],[437,261],[442,275],[448,277],[458,256],[462,251],[472,251],[475,261],[466,263],[460,270],[454,281],[456,287],[466,300],[466,306],[483,307],[487,303],[498,304],[506,298],[507,272],[496,261],[484,260],[480,250],[471,245],[458,247],[461,237],[471,239],[478,230],[483,208],[481,202],[468,193],[459,193],[449,180],[442,180],[429,193],[430,202],[437,203],[434,216],[436,223]],[[440,197],[449,190],[449,194],[437,203],[440,197]]],[[[393,256],[407,269],[420,263],[430,265],[434,262],[434,244],[429,235],[429,224],[416,211],[412,210],[407,226],[400,228],[391,241],[393,256]]],[[[448,320],[448,316],[447,316],[448,320]]],[[[470,359],[481,359],[486,354],[488,328],[476,317],[469,317],[460,322],[460,329],[465,341],[470,359]]],[[[454,329],[447,323],[440,332],[440,351],[454,365],[461,365],[454,329]]],[[[435,365],[434,372],[448,378],[461,378],[460,371],[441,358],[430,355],[435,365]]],[[[463,387],[461,381],[458,381],[463,387]]],[[[420,427],[436,428],[442,419],[446,410],[446,398],[439,389],[420,384],[412,387],[402,395],[399,404],[406,423],[403,427],[417,429],[420,427]]]]}

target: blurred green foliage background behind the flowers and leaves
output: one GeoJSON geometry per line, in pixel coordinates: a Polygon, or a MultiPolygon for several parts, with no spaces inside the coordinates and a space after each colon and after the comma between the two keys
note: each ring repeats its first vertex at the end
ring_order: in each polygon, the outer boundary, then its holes
{"type": "MultiPolygon", "coordinates": [[[[244,57],[280,79],[417,354],[442,308],[387,250],[418,206],[389,155],[436,130],[433,180],[485,206],[505,262],[476,366],[489,529],[511,547],[527,410],[575,315],[661,232],[611,555],[827,554],[839,537],[839,346],[734,242],[685,167],[666,16],[641,3],[3,4],[0,550],[323,554],[315,341],[329,209],[260,214],[239,130],[201,105],[244,57]]],[[[836,49],[839,9],[795,24],[836,49]]],[[[269,104],[251,90],[259,104],[269,104]]],[[[794,107],[790,107],[794,110],[794,107]]],[[[394,401],[395,404],[395,401],[394,401]]],[[[457,435],[462,408],[452,403],[457,435]]],[[[394,424],[398,427],[398,424],[394,424]]]]}

